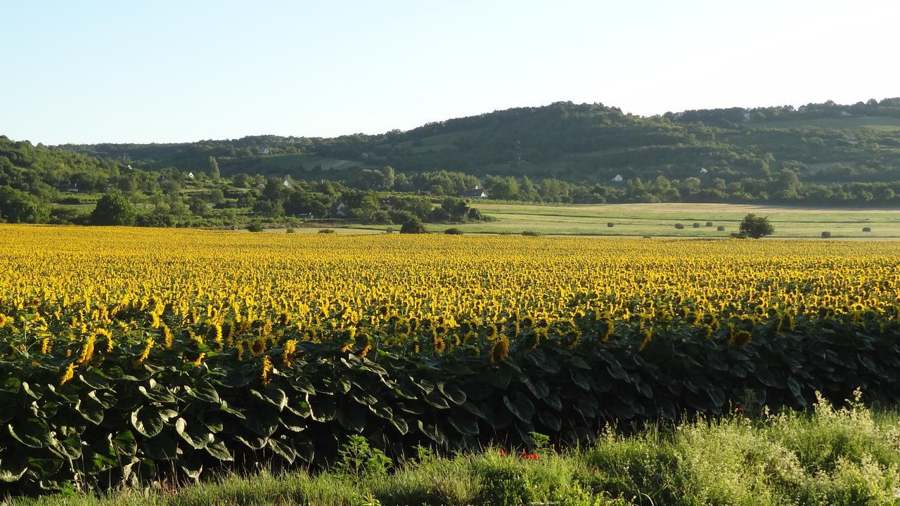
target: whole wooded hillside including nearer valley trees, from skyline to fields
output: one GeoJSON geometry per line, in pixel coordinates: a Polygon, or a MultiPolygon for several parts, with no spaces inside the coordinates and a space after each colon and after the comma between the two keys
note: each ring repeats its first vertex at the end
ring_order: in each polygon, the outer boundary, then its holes
{"type": "Polygon", "coordinates": [[[366,211],[350,215],[375,220],[386,194],[437,203],[476,186],[527,202],[896,206],[900,98],[652,117],[556,103],[335,138],[46,147],[0,136],[3,221],[84,221],[112,192],[152,210],[151,224],[322,216],[357,201],[366,211]]]}

